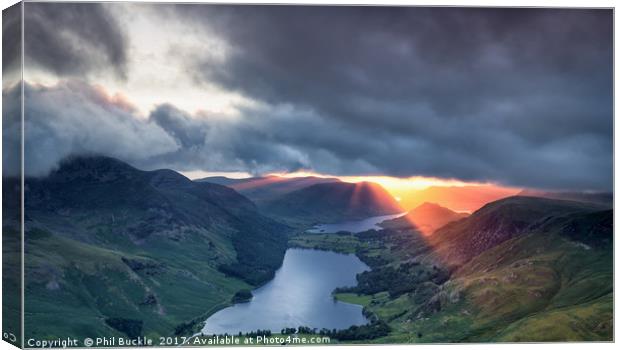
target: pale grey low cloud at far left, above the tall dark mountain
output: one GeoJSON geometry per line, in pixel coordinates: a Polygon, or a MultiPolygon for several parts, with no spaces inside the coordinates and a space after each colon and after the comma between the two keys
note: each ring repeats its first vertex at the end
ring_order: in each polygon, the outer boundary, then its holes
{"type": "MultiPolygon", "coordinates": [[[[70,81],[53,87],[26,84],[24,90],[28,176],[44,176],[60,160],[75,154],[105,154],[136,162],[181,147],[165,130],[139,119],[126,104],[100,88],[70,81]]],[[[9,150],[19,149],[19,93],[19,86],[3,91],[7,102],[4,145],[9,150]]],[[[3,166],[15,169],[14,161],[9,157],[3,166]]]]}

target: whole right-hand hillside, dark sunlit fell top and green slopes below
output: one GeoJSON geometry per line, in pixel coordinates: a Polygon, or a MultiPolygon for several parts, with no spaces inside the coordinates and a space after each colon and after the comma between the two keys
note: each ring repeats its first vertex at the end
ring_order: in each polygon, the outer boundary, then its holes
{"type": "Polygon", "coordinates": [[[391,341],[609,340],[613,212],[600,209],[533,197],[490,203],[439,229],[416,256],[446,266],[447,281],[375,312],[408,305],[391,320],[391,341]]]}

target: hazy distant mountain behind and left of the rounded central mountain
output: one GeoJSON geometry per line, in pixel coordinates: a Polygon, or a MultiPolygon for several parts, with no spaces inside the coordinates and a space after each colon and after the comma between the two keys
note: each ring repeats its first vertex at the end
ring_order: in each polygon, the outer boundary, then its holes
{"type": "Polygon", "coordinates": [[[210,182],[228,186],[248,197],[259,206],[266,201],[274,200],[285,194],[300,190],[305,187],[322,183],[340,182],[340,180],[336,178],[323,178],[316,176],[265,176],[251,177],[245,179],[230,179],[223,176],[214,176],[194,181],[210,182]]]}

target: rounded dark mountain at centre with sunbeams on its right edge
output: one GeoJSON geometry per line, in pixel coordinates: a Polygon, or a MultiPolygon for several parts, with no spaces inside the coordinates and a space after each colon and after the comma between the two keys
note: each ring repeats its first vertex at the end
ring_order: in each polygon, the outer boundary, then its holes
{"type": "Polygon", "coordinates": [[[402,209],[376,183],[332,182],[290,192],[267,202],[264,211],[287,221],[332,223],[397,214],[402,209]]]}

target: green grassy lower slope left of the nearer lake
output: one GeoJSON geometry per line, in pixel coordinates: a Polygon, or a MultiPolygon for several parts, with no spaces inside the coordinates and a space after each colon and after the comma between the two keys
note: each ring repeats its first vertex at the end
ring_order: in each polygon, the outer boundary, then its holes
{"type": "Polygon", "coordinates": [[[144,334],[173,334],[247,284],[191,255],[154,259],[34,230],[27,235],[26,332],[31,337],[120,335],[109,318],[143,322],[144,334]]]}

